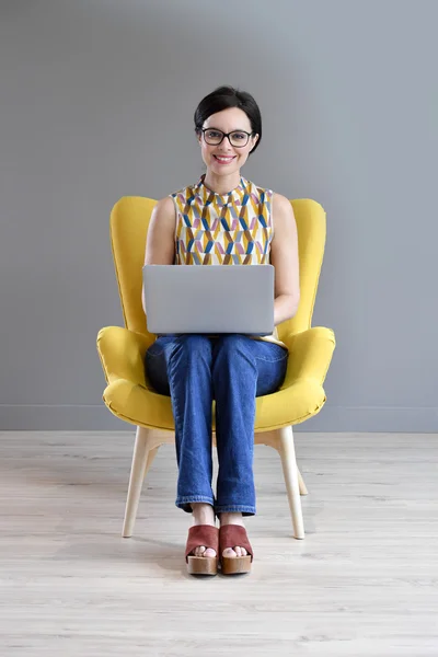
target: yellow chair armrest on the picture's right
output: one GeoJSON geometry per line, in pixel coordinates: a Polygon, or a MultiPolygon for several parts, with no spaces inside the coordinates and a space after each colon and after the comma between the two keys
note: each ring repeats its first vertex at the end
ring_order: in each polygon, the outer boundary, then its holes
{"type": "Polygon", "coordinates": [[[290,333],[283,342],[289,350],[289,358],[281,389],[289,388],[298,379],[312,379],[322,385],[336,346],[334,332],[314,326],[301,333],[290,333]]]}

